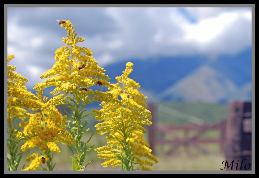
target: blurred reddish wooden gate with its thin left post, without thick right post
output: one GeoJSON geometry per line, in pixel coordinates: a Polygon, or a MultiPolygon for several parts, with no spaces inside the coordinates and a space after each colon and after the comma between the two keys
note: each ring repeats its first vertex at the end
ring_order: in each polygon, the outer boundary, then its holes
{"type": "Polygon", "coordinates": [[[149,103],[148,109],[152,113],[152,123],[148,127],[149,144],[153,154],[156,154],[156,146],[159,147],[169,146],[166,154],[174,154],[179,147],[184,147],[188,150],[190,147],[194,147],[202,153],[207,153],[207,150],[203,147],[207,143],[216,143],[220,145],[220,150],[224,150],[224,137],[225,137],[225,123],[226,120],[215,124],[187,124],[187,125],[157,125],[156,123],[156,105],[149,103]],[[218,136],[214,138],[204,137],[204,133],[214,130],[218,132],[218,136]],[[183,133],[179,135],[179,132],[183,133]]]}

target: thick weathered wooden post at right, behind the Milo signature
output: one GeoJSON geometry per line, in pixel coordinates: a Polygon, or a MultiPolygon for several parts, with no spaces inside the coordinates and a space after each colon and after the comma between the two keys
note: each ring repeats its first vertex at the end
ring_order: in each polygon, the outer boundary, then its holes
{"type": "MultiPolygon", "coordinates": [[[[252,169],[252,103],[232,101],[226,121],[225,170],[252,169]],[[226,165],[228,163],[228,165],[226,165]]],[[[224,165],[225,164],[225,165],[224,165]]]]}

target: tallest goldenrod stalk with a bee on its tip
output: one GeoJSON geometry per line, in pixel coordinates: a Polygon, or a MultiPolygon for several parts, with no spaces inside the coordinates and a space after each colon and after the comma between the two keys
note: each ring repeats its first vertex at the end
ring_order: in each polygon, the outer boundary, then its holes
{"type": "Polygon", "coordinates": [[[46,78],[45,82],[36,84],[34,90],[39,91],[50,86],[55,86],[56,88],[51,94],[57,95],[56,98],[58,99],[48,102],[48,104],[43,106],[43,109],[65,103],[72,110],[72,116],[67,112],[72,119],[67,121],[67,128],[74,139],[75,146],[73,147],[76,150],[69,144],[67,145],[73,153],[73,157],[71,157],[73,170],[84,170],[91,162],[83,165],[86,152],[94,147],[94,145],[90,147],[86,146],[86,143],[90,141],[94,133],[91,134],[88,141],[81,141],[83,133],[90,129],[84,129],[88,123],[86,119],[83,121],[83,118],[92,114],[84,114],[84,107],[94,101],[112,103],[119,101],[114,99],[113,95],[109,92],[93,91],[91,89],[95,85],[99,85],[100,88],[103,86],[112,88],[113,85],[108,82],[110,79],[109,76],[104,74],[105,70],[98,66],[98,63],[91,56],[91,50],[76,45],[85,39],[76,37],[77,33],[73,29],[74,25],[68,20],[60,21],[59,25],[65,27],[67,30],[67,36],[63,38],[66,46],[62,46],[55,51],[56,55],[53,67],[40,76],[41,79],[46,78]]]}

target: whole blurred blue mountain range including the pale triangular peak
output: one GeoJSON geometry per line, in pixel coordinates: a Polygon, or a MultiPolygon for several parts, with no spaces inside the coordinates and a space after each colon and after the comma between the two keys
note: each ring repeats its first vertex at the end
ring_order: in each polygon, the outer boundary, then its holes
{"type": "MultiPolygon", "coordinates": [[[[226,103],[251,100],[251,49],[238,55],[219,56],[211,61],[204,56],[154,57],[132,62],[129,76],[140,83],[140,91],[149,100],[226,103]]],[[[126,62],[105,66],[111,83],[122,74],[126,62]]]]}

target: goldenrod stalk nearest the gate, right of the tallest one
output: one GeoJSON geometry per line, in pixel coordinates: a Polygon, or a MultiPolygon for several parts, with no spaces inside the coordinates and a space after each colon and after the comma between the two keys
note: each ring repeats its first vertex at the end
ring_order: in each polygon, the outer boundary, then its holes
{"type": "Polygon", "coordinates": [[[98,134],[106,134],[107,146],[96,148],[98,157],[108,159],[102,163],[103,167],[121,166],[121,170],[151,170],[158,160],[151,154],[149,144],[143,139],[146,132],[144,125],[150,126],[151,112],[146,109],[144,100],[147,98],[140,92],[140,85],[128,75],[133,71],[132,63],[127,62],[126,69],[121,76],[116,77],[118,83],[109,88],[114,99],[119,103],[102,102],[101,109],[93,109],[97,121],[98,134]],[[148,158],[145,159],[145,158],[148,158]]]}

